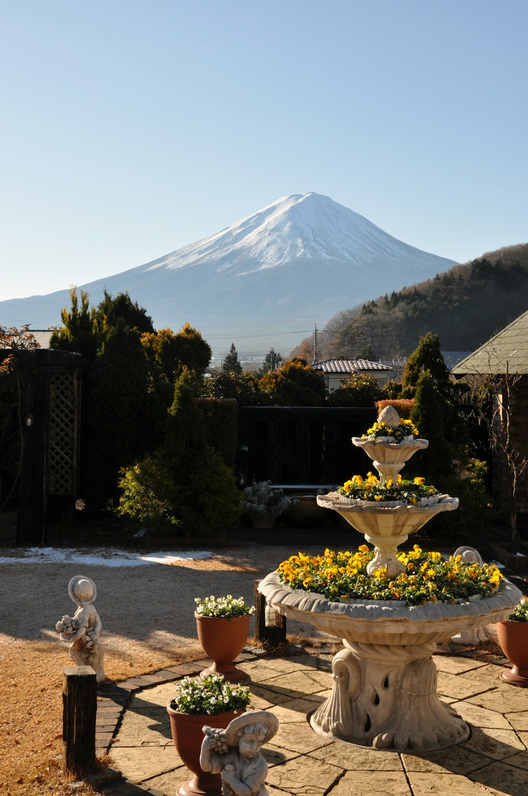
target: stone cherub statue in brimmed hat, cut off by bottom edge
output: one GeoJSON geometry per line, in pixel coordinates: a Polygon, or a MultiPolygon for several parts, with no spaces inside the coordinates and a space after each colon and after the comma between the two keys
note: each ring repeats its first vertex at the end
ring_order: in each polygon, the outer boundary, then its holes
{"type": "Polygon", "coordinates": [[[278,731],[278,718],[266,710],[237,716],[225,730],[204,727],[200,766],[222,775],[223,796],[268,796],[268,764],[260,749],[278,731]]]}

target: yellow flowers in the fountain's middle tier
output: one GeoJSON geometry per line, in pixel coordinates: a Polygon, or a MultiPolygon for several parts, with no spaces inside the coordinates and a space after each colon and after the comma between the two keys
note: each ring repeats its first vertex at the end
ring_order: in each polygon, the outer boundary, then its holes
{"type": "Polygon", "coordinates": [[[389,478],[385,484],[372,473],[368,473],[367,478],[353,475],[334,494],[338,494],[340,502],[347,505],[425,506],[436,505],[441,500],[440,492],[435,486],[425,484],[425,478],[418,476],[413,481],[404,481],[399,473],[395,480],[389,478]]]}

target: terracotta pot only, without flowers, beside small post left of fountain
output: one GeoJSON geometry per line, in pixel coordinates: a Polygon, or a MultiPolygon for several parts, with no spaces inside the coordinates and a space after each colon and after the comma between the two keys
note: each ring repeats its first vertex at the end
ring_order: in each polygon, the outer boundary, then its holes
{"type": "Polygon", "coordinates": [[[247,677],[245,672],[237,669],[233,661],[239,657],[250,629],[250,615],[232,616],[201,616],[196,614],[198,639],[204,652],[212,661],[208,669],[200,672],[200,677],[208,674],[223,674],[230,683],[236,683],[247,677]]]}

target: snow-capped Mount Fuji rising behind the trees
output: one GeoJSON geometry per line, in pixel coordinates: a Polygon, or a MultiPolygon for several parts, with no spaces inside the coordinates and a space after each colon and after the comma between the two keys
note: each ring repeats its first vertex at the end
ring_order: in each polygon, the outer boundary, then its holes
{"type": "MultiPolygon", "coordinates": [[[[214,235],[150,263],[82,285],[91,303],[128,291],[154,326],[189,322],[222,355],[289,350],[317,322],[448,270],[318,193],[282,197],[214,235]]],[[[60,323],[68,291],[0,302],[0,324],[60,323]]]]}

